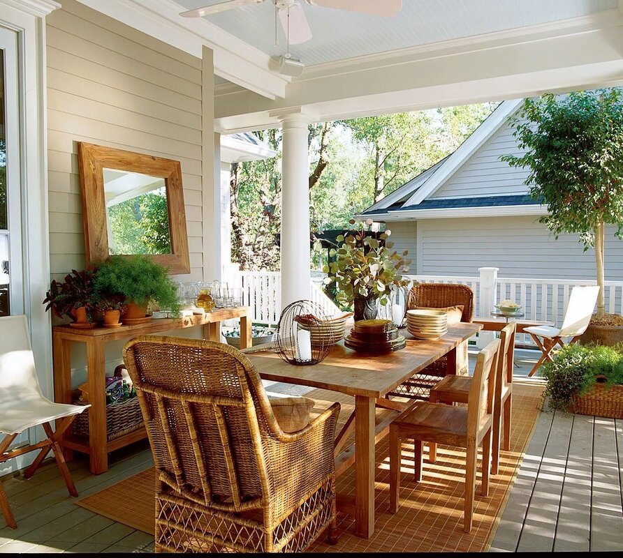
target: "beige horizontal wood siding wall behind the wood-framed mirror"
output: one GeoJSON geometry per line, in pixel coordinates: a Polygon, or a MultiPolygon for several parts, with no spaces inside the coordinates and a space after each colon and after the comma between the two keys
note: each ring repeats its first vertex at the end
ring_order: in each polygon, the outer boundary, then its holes
{"type": "Polygon", "coordinates": [[[203,280],[201,61],[75,0],[47,22],[52,278],[85,267],[76,143],[182,163],[191,274],[203,280]]]}

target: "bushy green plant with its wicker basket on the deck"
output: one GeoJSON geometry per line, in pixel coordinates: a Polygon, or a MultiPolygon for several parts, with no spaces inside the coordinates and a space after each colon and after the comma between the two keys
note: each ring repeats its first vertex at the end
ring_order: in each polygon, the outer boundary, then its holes
{"type": "Polygon", "coordinates": [[[623,418],[623,345],[566,345],[539,373],[550,409],[623,418]]]}

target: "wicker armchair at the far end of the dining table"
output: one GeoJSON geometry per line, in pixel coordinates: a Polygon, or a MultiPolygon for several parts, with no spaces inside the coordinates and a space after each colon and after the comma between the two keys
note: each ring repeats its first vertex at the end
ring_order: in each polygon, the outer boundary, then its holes
{"type": "MultiPolygon", "coordinates": [[[[407,308],[447,308],[463,306],[461,322],[471,322],[474,317],[474,291],[467,285],[447,283],[420,283],[409,291],[407,308]]],[[[428,400],[430,388],[446,375],[446,356],[434,361],[419,374],[414,374],[388,395],[399,395],[411,399],[428,400]]],[[[468,372],[467,341],[457,347],[457,375],[465,376],[468,372]]]]}

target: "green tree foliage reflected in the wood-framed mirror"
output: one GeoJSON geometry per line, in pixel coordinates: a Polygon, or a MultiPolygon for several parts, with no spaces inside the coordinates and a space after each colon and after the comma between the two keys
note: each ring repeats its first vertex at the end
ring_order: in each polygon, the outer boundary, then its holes
{"type": "Polygon", "coordinates": [[[165,188],[108,208],[115,254],[170,254],[169,213],[165,188]]]}

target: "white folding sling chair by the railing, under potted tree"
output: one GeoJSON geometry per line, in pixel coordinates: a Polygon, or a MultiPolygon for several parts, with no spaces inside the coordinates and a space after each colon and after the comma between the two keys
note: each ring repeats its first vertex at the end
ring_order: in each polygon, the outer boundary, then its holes
{"type": "Polygon", "coordinates": [[[564,347],[562,338],[570,337],[569,345],[575,343],[582,333],[584,333],[588,327],[593,310],[595,309],[595,303],[597,301],[597,295],[599,294],[599,286],[592,285],[589,287],[573,287],[571,289],[571,296],[569,296],[569,306],[564,312],[564,319],[562,320],[562,327],[560,329],[554,326],[532,326],[524,328],[524,331],[530,334],[532,339],[538,348],[541,349],[543,354],[538,362],[534,365],[534,368],[530,370],[529,376],[534,375],[534,372],[538,370],[539,366],[545,361],[552,360],[552,351],[556,345],[564,347]],[[543,338],[541,341],[539,338],[543,338]]]}

